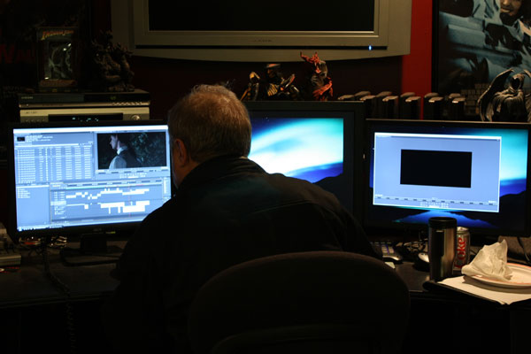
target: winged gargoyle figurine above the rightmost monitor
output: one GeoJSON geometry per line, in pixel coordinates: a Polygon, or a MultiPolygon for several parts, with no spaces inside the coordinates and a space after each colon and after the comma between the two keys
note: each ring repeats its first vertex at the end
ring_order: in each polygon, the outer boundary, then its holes
{"type": "Polygon", "coordinates": [[[489,121],[531,121],[531,99],[525,94],[522,87],[524,79],[531,78],[531,73],[523,70],[509,79],[505,88],[505,81],[513,72],[512,69],[499,73],[491,82],[489,89],[481,94],[478,99],[481,120],[489,121]]]}

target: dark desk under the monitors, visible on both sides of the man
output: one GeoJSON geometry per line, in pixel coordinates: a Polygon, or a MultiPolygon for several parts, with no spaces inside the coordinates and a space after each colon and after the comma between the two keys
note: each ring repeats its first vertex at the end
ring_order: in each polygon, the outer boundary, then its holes
{"type": "MultiPolygon", "coordinates": [[[[113,267],[63,266],[58,251],[50,251],[51,271],[71,289],[69,304],[80,353],[104,353],[109,348],[99,324],[99,309],[118,285],[109,275],[113,267]]],[[[397,265],[396,272],[409,287],[412,299],[404,353],[529,352],[525,340],[531,333],[531,303],[501,306],[453,291],[427,292],[422,284],[428,273],[416,269],[412,262],[397,265]]],[[[1,273],[0,352],[68,353],[67,300],[46,277],[38,255],[24,257],[19,272],[1,273]]]]}

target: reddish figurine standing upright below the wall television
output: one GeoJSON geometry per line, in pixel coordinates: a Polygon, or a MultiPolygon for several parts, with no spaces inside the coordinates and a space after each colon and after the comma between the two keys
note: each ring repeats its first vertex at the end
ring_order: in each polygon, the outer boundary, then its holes
{"type": "Polygon", "coordinates": [[[301,53],[308,69],[308,79],[304,86],[304,98],[314,101],[328,101],[333,96],[332,80],[328,77],[327,62],[319,59],[317,53],[312,58],[301,53]]]}

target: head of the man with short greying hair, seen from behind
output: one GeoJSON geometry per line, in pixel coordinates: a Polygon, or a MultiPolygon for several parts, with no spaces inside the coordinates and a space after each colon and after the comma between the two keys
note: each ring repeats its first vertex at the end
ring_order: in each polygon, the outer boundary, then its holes
{"type": "Polygon", "coordinates": [[[192,89],[168,113],[168,128],[176,185],[210,158],[249,155],[249,113],[234,92],[222,86],[192,89]]]}

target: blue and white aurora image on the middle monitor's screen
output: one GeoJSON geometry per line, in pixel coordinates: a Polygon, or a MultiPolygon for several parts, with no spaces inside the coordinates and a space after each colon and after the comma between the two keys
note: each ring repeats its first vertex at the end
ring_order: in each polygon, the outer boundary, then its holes
{"type": "Polygon", "coordinates": [[[251,119],[249,158],[268,173],[316,182],[342,173],[343,121],[251,119]]]}

